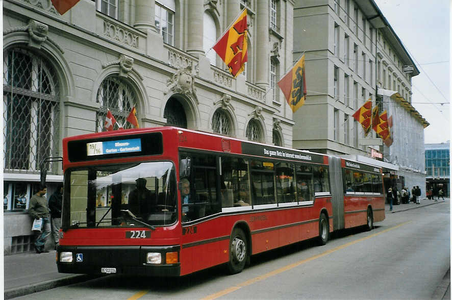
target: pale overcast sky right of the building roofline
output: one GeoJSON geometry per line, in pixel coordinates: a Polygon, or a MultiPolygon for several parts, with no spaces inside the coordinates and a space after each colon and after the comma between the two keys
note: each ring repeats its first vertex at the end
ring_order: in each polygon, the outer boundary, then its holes
{"type": "Polygon", "coordinates": [[[412,105],[430,123],[424,143],[450,140],[450,1],[374,1],[420,71],[412,105]]]}

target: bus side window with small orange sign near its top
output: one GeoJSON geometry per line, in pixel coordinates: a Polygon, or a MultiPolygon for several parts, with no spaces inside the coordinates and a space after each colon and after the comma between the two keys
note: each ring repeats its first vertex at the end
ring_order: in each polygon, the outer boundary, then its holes
{"type": "Polygon", "coordinates": [[[253,160],[250,163],[253,205],[275,204],[273,163],[253,160]]]}

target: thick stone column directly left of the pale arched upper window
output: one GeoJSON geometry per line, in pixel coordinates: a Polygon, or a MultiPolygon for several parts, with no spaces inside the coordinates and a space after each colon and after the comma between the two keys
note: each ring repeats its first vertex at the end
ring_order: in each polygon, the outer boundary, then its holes
{"type": "Polygon", "coordinates": [[[187,53],[195,57],[204,55],[203,18],[204,18],[204,1],[203,0],[188,1],[187,53]]]}

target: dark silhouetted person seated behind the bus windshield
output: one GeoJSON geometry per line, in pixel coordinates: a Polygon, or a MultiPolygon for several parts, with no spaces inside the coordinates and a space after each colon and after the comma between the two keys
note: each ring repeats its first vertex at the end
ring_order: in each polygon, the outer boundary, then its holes
{"type": "Polygon", "coordinates": [[[135,180],[135,189],[129,194],[129,210],[137,217],[145,218],[156,206],[156,195],[146,188],[146,179],[135,180]]]}

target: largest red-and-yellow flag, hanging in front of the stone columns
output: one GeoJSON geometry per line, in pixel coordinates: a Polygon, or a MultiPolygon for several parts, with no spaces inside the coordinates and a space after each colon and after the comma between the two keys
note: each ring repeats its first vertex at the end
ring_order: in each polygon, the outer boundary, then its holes
{"type": "Polygon", "coordinates": [[[242,10],[231,27],[215,43],[213,49],[228,66],[232,76],[237,77],[248,60],[248,24],[246,8],[242,10]]]}

